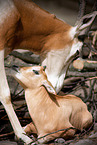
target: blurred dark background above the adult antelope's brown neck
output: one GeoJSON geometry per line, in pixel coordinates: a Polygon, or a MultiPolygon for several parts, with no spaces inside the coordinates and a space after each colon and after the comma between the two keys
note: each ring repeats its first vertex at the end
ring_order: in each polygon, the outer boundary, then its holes
{"type": "MultiPolygon", "coordinates": [[[[74,25],[79,11],[79,0],[32,0],[41,8],[55,14],[58,18],[68,24],[74,25]]],[[[95,0],[86,1],[85,14],[90,13],[93,9],[95,0]]],[[[96,3],[97,4],[97,3],[96,3]]],[[[96,5],[97,9],[97,5],[96,5]]]]}

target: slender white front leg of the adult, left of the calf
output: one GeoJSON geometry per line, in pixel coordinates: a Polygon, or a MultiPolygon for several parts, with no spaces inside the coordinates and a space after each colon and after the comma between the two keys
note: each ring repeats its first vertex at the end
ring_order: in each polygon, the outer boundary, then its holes
{"type": "Polygon", "coordinates": [[[7,112],[11,125],[14,129],[15,135],[18,138],[22,139],[25,143],[30,143],[32,140],[25,135],[25,132],[20,125],[20,122],[14,112],[11,103],[10,90],[8,87],[4,69],[4,50],[0,50],[0,101],[7,112]]]}

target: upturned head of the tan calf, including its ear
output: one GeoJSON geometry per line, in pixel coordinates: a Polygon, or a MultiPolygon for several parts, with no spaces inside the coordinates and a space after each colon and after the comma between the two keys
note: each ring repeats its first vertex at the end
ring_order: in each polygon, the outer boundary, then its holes
{"type": "Polygon", "coordinates": [[[12,72],[12,74],[24,89],[36,89],[44,86],[49,93],[56,94],[55,89],[47,79],[45,68],[45,66],[21,68],[13,66],[14,73],[12,72]]]}

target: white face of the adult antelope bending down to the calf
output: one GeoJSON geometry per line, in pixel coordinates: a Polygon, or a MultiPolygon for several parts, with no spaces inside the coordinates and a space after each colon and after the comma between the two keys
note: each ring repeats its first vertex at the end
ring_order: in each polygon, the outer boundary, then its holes
{"type": "Polygon", "coordinates": [[[59,92],[62,88],[71,57],[76,53],[77,50],[81,49],[82,45],[83,43],[75,38],[71,47],[67,46],[64,49],[51,50],[47,54],[46,59],[42,62],[42,65],[47,66],[46,74],[48,80],[56,89],[56,92],[59,92]]]}

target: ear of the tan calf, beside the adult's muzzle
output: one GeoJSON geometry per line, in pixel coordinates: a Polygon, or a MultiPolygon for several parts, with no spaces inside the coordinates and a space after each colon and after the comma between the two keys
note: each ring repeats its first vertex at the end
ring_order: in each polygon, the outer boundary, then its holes
{"type": "Polygon", "coordinates": [[[54,95],[57,94],[54,87],[51,85],[51,83],[49,81],[45,80],[42,85],[46,88],[46,90],[49,93],[54,94],[54,95]]]}

